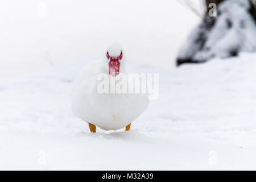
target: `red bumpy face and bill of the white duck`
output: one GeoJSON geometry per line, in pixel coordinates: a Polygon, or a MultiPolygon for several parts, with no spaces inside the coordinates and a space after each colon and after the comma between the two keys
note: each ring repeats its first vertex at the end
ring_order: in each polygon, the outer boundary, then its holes
{"type": "Polygon", "coordinates": [[[123,57],[122,51],[120,55],[117,57],[110,56],[109,51],[107,51],[106,57],[109,59],[109,75],[114,77],[117,76],[119,74],[119,69],[120,69],[120,60],[123,57]]]}

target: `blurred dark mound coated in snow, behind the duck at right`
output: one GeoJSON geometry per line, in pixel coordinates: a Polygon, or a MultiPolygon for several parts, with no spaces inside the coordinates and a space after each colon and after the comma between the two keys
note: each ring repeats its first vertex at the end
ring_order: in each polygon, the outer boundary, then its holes
{"type": "Polygon", "coordinates": [[[177,65],[255,52],[256,19],[251,12],[255,11],[254,5],[254,0],[226,0],[218,4],[217,17],[206,15],[188,36],[180,48],[177,65]]]}

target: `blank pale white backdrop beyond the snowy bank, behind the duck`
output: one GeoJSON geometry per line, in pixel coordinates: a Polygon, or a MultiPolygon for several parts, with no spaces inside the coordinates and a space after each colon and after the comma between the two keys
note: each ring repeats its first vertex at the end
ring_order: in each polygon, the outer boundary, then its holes
{"type": "Polygon", "coordinates": [[[177,1],[1,1],[0,76],[36,72],[77,57],[99,59],[109,43],[129,59],[173,68],[198,18],[177,1]]]}

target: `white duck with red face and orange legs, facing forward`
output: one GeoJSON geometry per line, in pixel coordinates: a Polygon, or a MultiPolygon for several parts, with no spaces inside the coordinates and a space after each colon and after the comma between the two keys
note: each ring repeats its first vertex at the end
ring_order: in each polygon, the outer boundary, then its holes
{"type": "MultiPolygon", "coordinates": [[[[89,129],[93,133],[96,132],[96,126],[104,130],[126,127],[125,130],[129,131],[131,122],[147,109],[148,94],[100,93],[98,85],[102,80],[99,80],[98,76],[101,73],[105,73],[109,80],[120,80],[120,75],[127,76],[139,72],[126,63],[122,47],[118,43],[111,44],[106,49],[104,59],[87,64],[76,78],[71,92],[72,111],[77,117],[89,123],[89,129]]],[[[117,84],[118,81],[115,85],[117,84]]],[[[127,90],[129,86],[127,84],[127,90]]]]}

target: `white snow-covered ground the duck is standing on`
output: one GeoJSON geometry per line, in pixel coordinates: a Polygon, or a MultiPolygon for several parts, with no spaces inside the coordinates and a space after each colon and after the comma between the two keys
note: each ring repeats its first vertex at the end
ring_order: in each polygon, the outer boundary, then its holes
{"type": "Polygon", "coordinates": [[[0,169],[256,169],[256,54],[159,73],[131,131],[89,133],[69,107],[88,60],[0,78],[0,169]]]}

